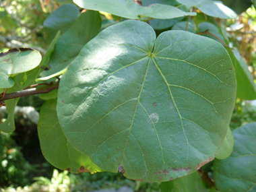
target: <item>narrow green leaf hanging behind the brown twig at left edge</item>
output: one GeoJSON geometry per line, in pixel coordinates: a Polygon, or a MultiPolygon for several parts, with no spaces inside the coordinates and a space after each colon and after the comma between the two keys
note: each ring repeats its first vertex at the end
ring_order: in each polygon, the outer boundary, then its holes
{"type": "MultiPolygon", "coordinates": [[[[7,93],[16,92],[22,90],[24,88],[24,82],[26,82],[27,76],[26,73],[21,73],[13,77],[14,79],[14,86],[7,90],[7,93]]],[[[5,133],[11,133],[15,130],[15,123],[14,123],[14,110],[15,106],[17,105],[20,98],[14,98],[10,100],[5,100],[6,110],[8,117],[4,123],[1,123],[0,129],[5,133]]]]}

